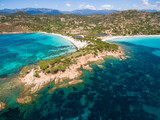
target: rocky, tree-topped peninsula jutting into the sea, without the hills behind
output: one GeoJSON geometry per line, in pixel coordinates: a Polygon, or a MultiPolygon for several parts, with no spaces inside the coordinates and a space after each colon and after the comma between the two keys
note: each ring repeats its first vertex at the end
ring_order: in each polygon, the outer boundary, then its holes
{"type": "MultiPolygon", "coordinates": [[[[65,38],[68,39],[68,37],[65,38]]],[[[69,37],[70,40],[78,48],[76,52],[69,56],[40,61],[32,68],[25,66],[22,69],[19,79],[24,87],[17,98],[18,103],[26,104],[31,102],[35,98],[36,92],[52,82],[54,82],[54,85],[48,91],[49,93],[57,88],[83,82],[79,79],[82,74],[80,69],[92,70],[88,63],[103,62],[103,57],[106,56],[125,59],[122,48],[115,44],[103,42],[101,39],[83,38],[83,41],[80,41],[69,37]],[[85,41],[85,39],[88,39],[88,41],[85,41]]]]}

